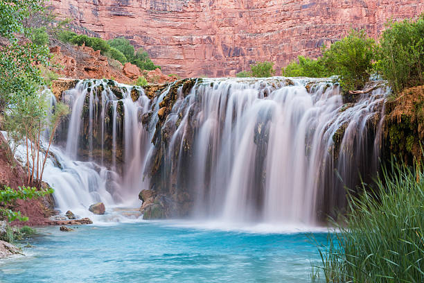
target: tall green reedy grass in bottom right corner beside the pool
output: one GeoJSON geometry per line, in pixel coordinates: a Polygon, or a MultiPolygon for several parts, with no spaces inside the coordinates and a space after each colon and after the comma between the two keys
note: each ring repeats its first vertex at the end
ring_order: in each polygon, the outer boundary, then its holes
{"type": "Polygon", "coordinates": [[[392,165],[349,196],[349,213],[320,248],[326,282],[424,282],[424,173],[392,165]]]}

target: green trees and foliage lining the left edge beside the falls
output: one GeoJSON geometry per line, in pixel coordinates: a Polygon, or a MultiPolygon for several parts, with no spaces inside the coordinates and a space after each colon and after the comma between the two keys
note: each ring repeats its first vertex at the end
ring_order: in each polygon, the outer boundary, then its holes
{"type": "MultiPolygon", "coordinates": [[[[44,79],[40,66],[48,65],[49,53],[46,46],[31,41],[29,35],[32,29],[24,25],[30,12],[44,9],[42,1],[0,1],[0,115],[3,117],[1,128],[8,130],[11,144],[26,143],[26,164],[28,176],[26,185],[29,187],[10,188],[5,186],[0,190],[0,214],[9,221],[26,220],[20,212],[13,212],[8,205],[17,199],[30,199],[51,194],[51,189],[42,187],[42,171],[46,162],[39,162],[41,135],[46,128],[51,128],[53,139],[55,126],[60,117],[66,113],[65,106],[57,103],[53,106],[52,117],[57,121],[48,120],[50,105],[42,89],[44,79]],[[30,171],[29,164],[34,164],[37,158],[37,172],[30,171]],[[32,163],[30,162],[32,161],[32,163]],[[35,175],[36,174],[36,175],[35,175]],[[31,187],[34,186],[34,187],[31,187]]],[[[48,155],[48,149],[46,150],[48,155]]],[[[11,162],[15,159],[10,156],[11,162]]]]}

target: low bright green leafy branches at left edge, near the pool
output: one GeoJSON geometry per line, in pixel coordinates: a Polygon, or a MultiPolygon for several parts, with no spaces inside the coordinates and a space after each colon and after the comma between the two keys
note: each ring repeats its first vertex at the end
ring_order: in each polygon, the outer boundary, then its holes
{"type": "Polygon", "coordinates": [[[28,221],[28,217],[22,216],[21,212],[14,212],[12,209],[6,208],[6,205],[10,205],[15,200],[28,200],[33,198],[40,198],[46,196],[46,194],[53,194],[53,189],[36,189],[35,187],[18,187],[17,189],[11,189],[5,186],[0,190],[0,215],[6,218],[8,221],[28,221]]]}

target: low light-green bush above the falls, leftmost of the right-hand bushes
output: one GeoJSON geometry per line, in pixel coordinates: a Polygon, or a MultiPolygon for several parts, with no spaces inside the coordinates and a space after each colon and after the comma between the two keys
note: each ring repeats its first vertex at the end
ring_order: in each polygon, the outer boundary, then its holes
{"type": "Polygon", "coordinates": [[[313,60],[311,58],[305,58],[299,56],[297,61],[291,62],[287,67],[281,69],[281,76],[287,77],[308,77],[308,78],[323,78],[327,76],[333,76],[328,71],[322,58],[313,60]]]}

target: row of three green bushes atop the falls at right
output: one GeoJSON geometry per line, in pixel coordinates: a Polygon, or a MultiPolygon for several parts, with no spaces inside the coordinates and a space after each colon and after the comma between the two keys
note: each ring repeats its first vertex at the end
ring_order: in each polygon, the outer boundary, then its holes
{"type": "Polygon", "coordinates": [[[396,96],[407,87],[424,84],[424,14],[403,22],[388,22],[380,44],[364,31],[351,31],[317,60],[299,56],[281,70],[283,76],[339,76],[345,91],[361,89],[373,75],[388,80],[396,96]]]}

